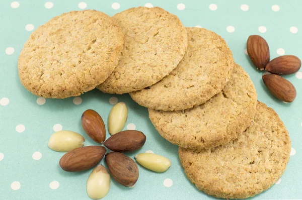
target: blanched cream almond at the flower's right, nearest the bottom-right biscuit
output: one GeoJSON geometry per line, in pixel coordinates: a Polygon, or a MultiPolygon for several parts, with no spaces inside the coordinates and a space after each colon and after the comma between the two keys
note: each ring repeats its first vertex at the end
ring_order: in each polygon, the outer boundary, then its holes
{"type": "Polygon", "coordinates": [[[135,159],[143,167],[155,172],[164,172],[171,166],[168,158],[154,153],[139,153],[135,159]]]}

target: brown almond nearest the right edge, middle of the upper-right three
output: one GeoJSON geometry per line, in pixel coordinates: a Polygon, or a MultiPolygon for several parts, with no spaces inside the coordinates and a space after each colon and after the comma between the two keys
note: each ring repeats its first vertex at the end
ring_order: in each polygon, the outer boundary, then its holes
{"type": "Polygon", "coordinates": [[[297,72],[301,67],[301,60],[293,55],[279,56],[272,59],[265,70],[278,75],[288,75],[297,72]]]}

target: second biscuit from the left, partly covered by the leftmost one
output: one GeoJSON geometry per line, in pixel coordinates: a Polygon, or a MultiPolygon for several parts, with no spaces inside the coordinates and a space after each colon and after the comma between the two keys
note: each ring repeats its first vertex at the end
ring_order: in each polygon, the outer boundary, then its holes
{"type": "Polygon", "coordinates": [[[121,94],[143,89],[167,76],[183,58],[187,33],[177,16],[158,7],[138,7],[113,18],[125,44],[118,66],[100,90],[121,94]]]}

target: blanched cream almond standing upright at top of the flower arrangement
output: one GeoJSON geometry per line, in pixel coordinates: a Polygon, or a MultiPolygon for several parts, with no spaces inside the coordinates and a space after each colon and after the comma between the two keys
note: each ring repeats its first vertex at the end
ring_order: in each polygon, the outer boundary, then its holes
{"type": "Polygon", "coordinates": [[[125,103],[120,102],[114,105],[109,113],[108,118],[108,132],[113,135],[120,132],[128,117],[128,108],[125,103]]]}

